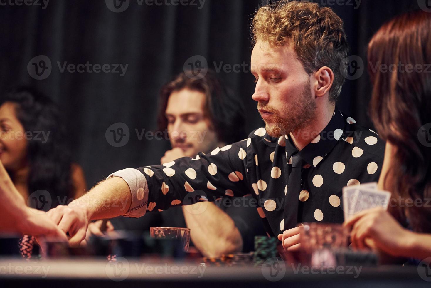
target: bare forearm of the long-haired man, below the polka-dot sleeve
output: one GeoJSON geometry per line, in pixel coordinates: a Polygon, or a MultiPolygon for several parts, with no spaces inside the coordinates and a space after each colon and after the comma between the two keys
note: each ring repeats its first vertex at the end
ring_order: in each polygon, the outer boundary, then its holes
{"type": "Polygon", "coordinates": [[[191,230],[191,240],[204,256],[220,257],[242,250],[242,236],[234,220],[214,203],[183,206],[183,213],[191,230]],[[202,213],[201,209],[204,210],[202,213]]]}

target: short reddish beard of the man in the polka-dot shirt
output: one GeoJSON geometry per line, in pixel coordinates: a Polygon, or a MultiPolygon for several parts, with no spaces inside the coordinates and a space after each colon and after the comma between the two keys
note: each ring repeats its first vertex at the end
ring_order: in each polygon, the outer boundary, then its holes
{"type": "Polygon", "coordinates": [[[290,132],[298,133],[315,119],[317,105],[312,99],[310,85],[305,85],[300,97],[293,103],[286,103],[280,110],[258,104],[258,109],[274,113],[271,122],[265,121],[265,130],[271,137],[280,137],[290,132]],[[280,115],[283,111],[283,115],[280,115]]]}

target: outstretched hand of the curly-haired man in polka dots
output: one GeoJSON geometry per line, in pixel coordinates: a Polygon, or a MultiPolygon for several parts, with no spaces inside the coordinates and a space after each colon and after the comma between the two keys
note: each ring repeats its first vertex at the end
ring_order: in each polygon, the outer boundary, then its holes
{"type": "MultiPolygon", "coordinates": [[[[73,203],[73,202],[72,202],[73,203]]],[[[57,206],[47,212],[47,215],[63,232],[69,232],[69,244],[78,246],[87,234],[88,219],[86,210],[82,207],[57,206]]]]}

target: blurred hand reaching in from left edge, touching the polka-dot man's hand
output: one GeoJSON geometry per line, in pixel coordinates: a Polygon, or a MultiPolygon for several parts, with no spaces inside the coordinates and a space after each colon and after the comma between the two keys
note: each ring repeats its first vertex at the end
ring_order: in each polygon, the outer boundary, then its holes
{"type": "Polygon", "coordinates": [[[67,241],[66,233],[54,223],[44,211],[26,208],[24,218],[19,221],[19,232],[34,237],[53,237],[67,241]]]}

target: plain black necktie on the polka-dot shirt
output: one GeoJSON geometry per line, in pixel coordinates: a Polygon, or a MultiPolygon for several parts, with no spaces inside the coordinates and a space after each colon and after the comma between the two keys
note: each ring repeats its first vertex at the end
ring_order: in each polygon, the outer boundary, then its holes
{"type": "Polygon", "coordinates": [[[298,153],[292,155],[292,171],[287,181],[286,203],[284,203],[284,230],[298,224],[299,194],[301,192],[301,169],[304,164],[298,153]]]}

